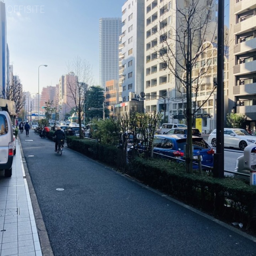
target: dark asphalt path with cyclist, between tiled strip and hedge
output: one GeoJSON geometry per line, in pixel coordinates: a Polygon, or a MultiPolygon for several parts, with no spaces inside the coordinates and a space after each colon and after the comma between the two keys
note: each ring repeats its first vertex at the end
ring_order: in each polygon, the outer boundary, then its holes
{"type": "Polygon", "coordinates": [[[54,256],[256,256],[252,240],[111,168],[19,136],[54,256]]]}

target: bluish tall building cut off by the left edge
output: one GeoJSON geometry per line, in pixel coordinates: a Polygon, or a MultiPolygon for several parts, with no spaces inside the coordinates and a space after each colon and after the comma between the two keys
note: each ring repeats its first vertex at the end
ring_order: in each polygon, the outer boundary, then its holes
{"type": "Polygon", "coordinates": [[[4,2],[0,2],[0,98],[5,98],[6,80],[9,67],[7,66],[7,41],[6,41],[6,12],[4,2]]]}

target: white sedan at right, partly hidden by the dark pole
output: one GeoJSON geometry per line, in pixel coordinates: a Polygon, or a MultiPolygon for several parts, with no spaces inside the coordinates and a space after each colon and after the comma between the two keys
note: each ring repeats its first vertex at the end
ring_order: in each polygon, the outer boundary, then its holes
{"type": "MultiPolygon", "coordinates": [[[[208,143],[216,147],[216,129],[209,134],[208,143]]],[[[256,142],[256,136],[240,128],[224,128],[224,147],[240,148],[244,150],[249,144],[256,142]]]]}

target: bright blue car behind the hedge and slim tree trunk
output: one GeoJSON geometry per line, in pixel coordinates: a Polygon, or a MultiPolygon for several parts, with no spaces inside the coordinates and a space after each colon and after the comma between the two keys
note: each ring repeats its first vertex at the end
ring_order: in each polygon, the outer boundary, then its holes
{"type": "MultiPolygon", "coordinates": [[[[185,160],[184,148],[186,145],[186,135],[155,135],[153,151],[158,154],[171,156],[178,159],[185,160]]],[[[202,162],[202,169],[209,169],[206,166],[213,167],[214,150],[201,137],[192,137],[193,155],[194,158],[200,156],[202,162]]],[[[198,169],[197,164],[193,164],[193,169],[198,169]]]]}

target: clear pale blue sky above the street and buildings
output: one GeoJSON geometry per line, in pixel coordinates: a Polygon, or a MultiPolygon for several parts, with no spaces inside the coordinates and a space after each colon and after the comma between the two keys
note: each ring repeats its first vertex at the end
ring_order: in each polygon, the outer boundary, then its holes
{"type": "MultiPolygon", "coordinates": [[[[10,64],[25,91],[58,84],[67,63],[80,56],[99,83],[99,19],[121,17],[125,0],[5,0],[10,64]]],[[[225,24],[229,0],[225,1],[225,24]]]]}

